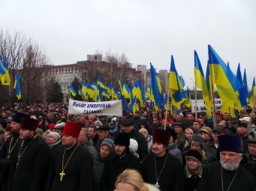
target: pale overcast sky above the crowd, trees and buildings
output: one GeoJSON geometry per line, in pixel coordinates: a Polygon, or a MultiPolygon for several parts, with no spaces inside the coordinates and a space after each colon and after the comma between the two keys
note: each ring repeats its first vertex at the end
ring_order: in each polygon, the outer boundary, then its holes
{"type": "Polygon", "coordinates": [[[31,37],[53,65],[110,50],[159,72],[174,55],[193,88],[193,52],[206,72],[211,45],[235,74],[247,69],[250,87],[256,76],[255,0],[0,0],[0,27],[31,37]]]}

